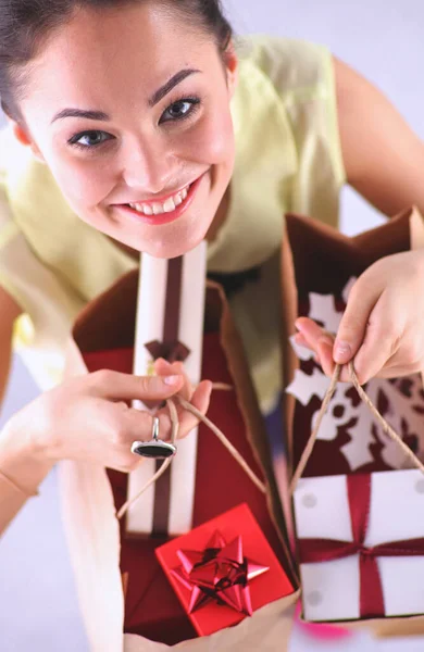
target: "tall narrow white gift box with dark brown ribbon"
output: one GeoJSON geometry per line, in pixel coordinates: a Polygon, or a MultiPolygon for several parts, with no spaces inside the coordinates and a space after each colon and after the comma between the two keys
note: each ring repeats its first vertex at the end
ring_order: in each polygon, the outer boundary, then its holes
{"type": "MultiPolygon", "coordinates": [[[[134,373],[148,375],[154,360],[146,344],[170,343],[170,338],[187,349],[185,371],[190,381],[200,381],[203,342],[203,317],[207,278],[207,244],[202,241],[180,260],[180,278],[175,284],[175,261],[155,259],[144,254],[140,265],[139,298],[137,308],[134,373]],[[178,287],[174,287],[177,285],[178,287]],[[170,291],[171,290],[171,291],[170,291]],[[175,293],[179,294],[175,305],[175,293]],[[173,303],[173,305],[170,305],[173,303]],[[175,312],[177,314],[170,314],[175,312]],[[175,322],[171,327],[166,321],[175,322]],[[175,330],[175,333],[170,333],[175,330]]],[[[165,356],[161,353],[162,356],[165,356]]],[[[146,409],[135,402],[136,408],[146,409]]],[[[170,536],[187,532],[192,525],[195,479],[197,468],[197,428],[177,442],[178,452],[169,469],[169,504],[160,521],[166,523],[170,536]]],[[[157,471],[154,460],[145,460],[129,474],[128,499],[138,496],[157,471]]],[[[150,535],[154,531],[154,514],[159,482],[152,485],[129,509],[126,531],[130,535],[150,535]]],[[[163,504],[163,501],[162,501],[163,504]]],[[[161,506],[163,510],[163,506],[161,506]]]]}

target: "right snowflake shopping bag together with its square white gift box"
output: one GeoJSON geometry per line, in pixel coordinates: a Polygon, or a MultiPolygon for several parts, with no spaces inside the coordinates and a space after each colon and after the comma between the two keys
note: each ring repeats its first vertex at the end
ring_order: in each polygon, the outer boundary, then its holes
{"type": "MultiPolygon", "coordinates": [[[[292,335],[297,316],[337,333],[349,291],[364,269],[423,244],[416,211],[356,238],[287,216],[285,337],[292,335]]],[[[338,384],[323,412],[329,380],[310,352],[292,348],[286,358],[285,415],[294,468],[301,464],[297,476],[302,477],[292,488],[303,618],[362,624],[381,634],[424,632],[422,377],[372,379],[366,396],[338,384]],[[316,440],[304,456],[313,430],[316,440]]]]}

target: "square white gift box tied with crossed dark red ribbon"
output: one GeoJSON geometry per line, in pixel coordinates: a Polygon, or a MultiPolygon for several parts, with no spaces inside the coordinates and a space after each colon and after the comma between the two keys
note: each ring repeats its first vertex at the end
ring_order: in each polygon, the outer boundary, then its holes
{"type": "MultiPolygon", "coordinates": [[[[311,541],[353,541],[346,475],[302,478],[294,496],[297,539],[300,556],[311,541]]],[[[348,620],[370,617],[361,614],[361,568],[370,559],[370,549],[394,542],[416,541],[414,553],[406,552],[376,560],[383,613],[379,616],[424,614],[424,475],[421,471],[388,471],[353,476],[369,478],[371,499],[369,519],[358,551],[341,559],[302,563],[300,574],[303,616],[307,620],[348,620]],[[421,554],[422,550],[422,554],[421,554]]],[[[340,543],[340,548],[342,543],[340,543]]],[[[412,543],[406,544],[406,551],[412,543]]],[[[358,550],[358,547],[357,547],[358,550]]],[[[303,560],[310,559],[304,556],[303,560]]],[[[362,587],[363,589],[363,587],[362,587]]]]}

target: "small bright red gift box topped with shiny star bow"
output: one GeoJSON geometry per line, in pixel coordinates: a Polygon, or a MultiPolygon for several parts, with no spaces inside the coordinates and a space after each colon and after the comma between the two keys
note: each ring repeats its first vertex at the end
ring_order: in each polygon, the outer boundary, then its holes
{"type": "Polygon", "coordinates": [[[294,591],[246,503],[155,554],[200,636],[236,625],[294,591]]]}

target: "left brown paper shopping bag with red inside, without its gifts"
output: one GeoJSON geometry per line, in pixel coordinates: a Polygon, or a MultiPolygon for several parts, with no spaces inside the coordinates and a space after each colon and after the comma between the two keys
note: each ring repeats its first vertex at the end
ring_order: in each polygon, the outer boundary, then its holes
{"type": "MultiPolygon", "coordinates": [[[[137,285],[137,273],[130,273],[85,309],[70,341],[70,374],[99,368],[130,373],[137,285]]],[[[169,645],[196,652],[229,651],[244,650],[253,641],[264,651],[287,649],[298,595],[287,532],[242,347],[223,291],[215,284],[209,284],[207,292],[202,376],[232,387],[213,393],[208,416],[263,478],[266,496],[201,425],[194,527],[247,502],[290,577],[294,592],[235,627],[196,638],[154,557],[154,548],[165,539],[128,538],[125,523],[116,519],[116,510],[125,502],[127,477],[93,464],[66,461],[61,464],[65,527],[82,613],[96,652],[141,652],[169,645]]]]}

